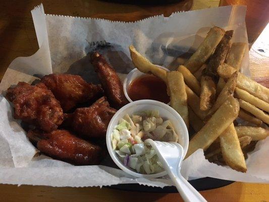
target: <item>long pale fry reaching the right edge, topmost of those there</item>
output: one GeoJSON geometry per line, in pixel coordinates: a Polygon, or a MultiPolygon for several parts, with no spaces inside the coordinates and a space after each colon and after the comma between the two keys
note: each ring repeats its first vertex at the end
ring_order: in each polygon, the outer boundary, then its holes
{"type": "MultiPolygon", "coordinates": [[[[218,67],[218,73],[220,77],[224,79],[229,79],[236,71],[237,70],[235,68],[226,63],[218,67]]],[[[255,97],[258,97],[264,102],[269,103],[269,89],[246,77],[242,73],[238,74],[237,87],[249,92],[255,97]]]]}

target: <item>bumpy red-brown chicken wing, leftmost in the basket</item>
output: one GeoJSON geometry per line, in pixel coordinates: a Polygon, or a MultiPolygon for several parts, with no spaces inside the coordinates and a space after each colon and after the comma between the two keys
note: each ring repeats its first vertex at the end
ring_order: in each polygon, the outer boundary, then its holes
{"type": "Polygon", "coordinates": [[[14,105],[14,118],[40,127],[44,131],[58,128],[64,119],[59,101],[43,83],[30,85],[19,82],[7,90],[7,98],[14,105]]]}

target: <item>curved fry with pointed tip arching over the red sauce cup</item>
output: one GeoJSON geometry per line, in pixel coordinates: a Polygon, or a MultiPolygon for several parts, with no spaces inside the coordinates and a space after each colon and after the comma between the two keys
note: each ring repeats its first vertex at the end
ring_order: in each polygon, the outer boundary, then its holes
{"type": "Polygon", "coordinates": [[[154,76],[159,77],[163,81],[166,80],[166,73],[167,71],[164,69],[159,68],[157,65],[152,64],[143,57],[140,53],[138,53],[133,45],[129,46],[130,54],[132,58],[132,62],[134,66],[140,71],[145,74],[152,73],[154,76]]]}

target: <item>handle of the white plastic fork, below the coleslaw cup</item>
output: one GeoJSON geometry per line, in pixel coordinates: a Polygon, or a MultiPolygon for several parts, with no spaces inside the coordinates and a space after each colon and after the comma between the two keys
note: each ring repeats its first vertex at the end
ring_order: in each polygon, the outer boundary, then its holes
{"type": "Polygon", "coordinates": [[[171,172],[169,176],[185,202],[206,202],[205,198],[182,175],[171,172]]]}

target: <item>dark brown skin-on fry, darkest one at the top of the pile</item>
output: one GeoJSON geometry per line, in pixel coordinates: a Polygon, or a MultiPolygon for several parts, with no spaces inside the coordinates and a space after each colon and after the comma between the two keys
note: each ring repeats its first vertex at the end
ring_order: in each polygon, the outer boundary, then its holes
{"type": "Polygon", "coordinates": [[[212,77],[215,82],[217,82],[219,79],[217,72],[218,67],[224,63],[230,51],[233,32],[233,30],[225,32],[221,42],[218,44],[213,55],[210,57],[207,67],[203,71],[203,75],[212,77]]]}

